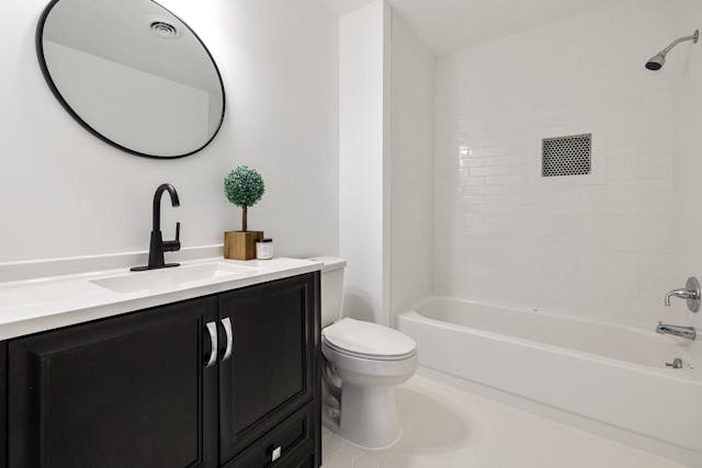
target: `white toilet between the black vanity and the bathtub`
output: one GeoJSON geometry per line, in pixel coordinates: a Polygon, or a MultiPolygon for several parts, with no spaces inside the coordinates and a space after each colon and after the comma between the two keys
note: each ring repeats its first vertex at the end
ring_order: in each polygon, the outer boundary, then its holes
{"type": "Polygon", "coordinates": [[[325,425],[367,448],[400,435],[395,386],[417,370],[417,344],[388,327],[341,318],[346,261],[317,258],[321,272],[321,352],[325,425]]]}

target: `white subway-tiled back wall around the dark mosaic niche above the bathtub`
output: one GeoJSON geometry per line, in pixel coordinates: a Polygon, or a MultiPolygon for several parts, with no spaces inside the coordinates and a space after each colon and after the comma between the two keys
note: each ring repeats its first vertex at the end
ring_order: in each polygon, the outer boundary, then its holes
{"type": "Polygon", "coordinates": [[[648,329],[679,318],[663,296],[684,281],[675,150],[687,52],[661,72],[643,67],[688,33],[675,20],[666,2],[631,0],[439,60],[438,294],[648,329]],[[541,138],[590,132],[597,175],[539,176],[541,138]]]}

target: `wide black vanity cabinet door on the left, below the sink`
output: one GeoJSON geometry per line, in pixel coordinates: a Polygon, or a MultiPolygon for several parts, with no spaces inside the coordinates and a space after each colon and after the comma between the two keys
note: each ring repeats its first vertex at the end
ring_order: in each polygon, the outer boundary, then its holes
{"type": "Polygon", "coordinates": [[[204,364],[216,306],[203,298],[10,342],[9,467],[217,467],[217,366],[204,364]]]}

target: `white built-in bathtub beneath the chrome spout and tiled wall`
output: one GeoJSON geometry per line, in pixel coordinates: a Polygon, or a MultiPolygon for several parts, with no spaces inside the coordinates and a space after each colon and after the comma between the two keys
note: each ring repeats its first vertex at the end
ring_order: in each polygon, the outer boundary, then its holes
{"type": "Polygon", "coordinates": [[[426,368],[631,432],[642,448],[702,467],[700,342],[452,298],[426,300],[397,324],[426,368]],[[683,368],[665,366],[675,357],[683,368]]]}

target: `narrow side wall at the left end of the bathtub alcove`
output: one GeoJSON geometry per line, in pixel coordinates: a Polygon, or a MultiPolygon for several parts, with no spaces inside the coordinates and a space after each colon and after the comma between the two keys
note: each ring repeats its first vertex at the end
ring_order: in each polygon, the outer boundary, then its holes
{"type": "Polygon", "coordinates": [[[393,315],[431,296],[434,56],[392,13],[390,304],[393,315]]]}

